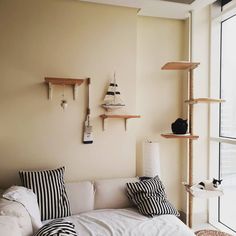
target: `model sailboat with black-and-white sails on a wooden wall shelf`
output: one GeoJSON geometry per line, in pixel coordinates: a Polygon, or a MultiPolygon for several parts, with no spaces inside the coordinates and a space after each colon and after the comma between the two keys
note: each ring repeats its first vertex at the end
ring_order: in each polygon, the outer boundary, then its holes
{"type": "Polygon", "coordinates": [[[110,83],[106,96],[103,100],[102,107],[106,110],[114,110],[124,107],[125,104],[121,99],[120,92],[118,90],[118,84],[116,83],[116,73],[114,73],[113,81],[110,83]]]}

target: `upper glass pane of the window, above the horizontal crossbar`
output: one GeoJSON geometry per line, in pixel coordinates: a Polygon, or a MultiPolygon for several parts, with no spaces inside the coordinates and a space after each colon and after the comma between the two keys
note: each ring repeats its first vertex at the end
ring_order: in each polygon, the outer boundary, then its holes
{"type": "Polygon", "coordinates": [[[220,136],[236,138],[236,16],[222,22],[220,136]]]}

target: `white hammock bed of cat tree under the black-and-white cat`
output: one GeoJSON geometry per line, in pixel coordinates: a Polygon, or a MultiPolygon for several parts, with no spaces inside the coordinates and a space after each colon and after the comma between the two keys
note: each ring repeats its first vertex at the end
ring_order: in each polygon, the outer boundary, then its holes
{"type": "Polygon", "coordinates": [[[185,189],[188,193],[190,193],[193,197],[197,197],[197,198],[212,198],[212,197],[220,197],[224,195],[224,191],[220,189],[209,191],[209,190],[200,189],[196,185],[189,186],[186,183],[183,183],[183,185],[185,186],[185,189]]]}

